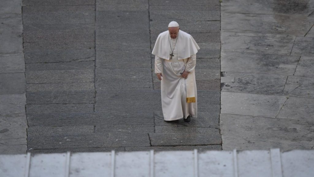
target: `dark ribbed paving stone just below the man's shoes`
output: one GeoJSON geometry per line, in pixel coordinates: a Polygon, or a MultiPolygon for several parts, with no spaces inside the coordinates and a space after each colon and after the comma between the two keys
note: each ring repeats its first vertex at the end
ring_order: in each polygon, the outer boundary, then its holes
{"type": "Polygon", "coordinates": [[[150,133],[152,146],[220,145],[219,129],[198,127],[155,126],[156,133],[150,133]]]}

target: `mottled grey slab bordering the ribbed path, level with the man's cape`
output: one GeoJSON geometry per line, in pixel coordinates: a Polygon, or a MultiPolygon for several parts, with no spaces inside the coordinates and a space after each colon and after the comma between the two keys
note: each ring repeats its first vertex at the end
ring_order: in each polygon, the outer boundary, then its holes
{"type": "Polygon", "coordinates": [[[222,51],[290,54],[294,36],[224,32],[221,35],[222,51]]]}

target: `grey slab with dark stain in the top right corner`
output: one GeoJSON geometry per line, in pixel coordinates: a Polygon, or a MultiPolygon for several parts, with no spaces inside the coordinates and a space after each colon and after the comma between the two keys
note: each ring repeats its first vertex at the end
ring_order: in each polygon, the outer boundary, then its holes
{"type": "Polygon", "coordinates": [[[303,14],[308,16],[314,10],[314,3],[307,0],[224,0],[221,11],[249,14],[303,14]]]}

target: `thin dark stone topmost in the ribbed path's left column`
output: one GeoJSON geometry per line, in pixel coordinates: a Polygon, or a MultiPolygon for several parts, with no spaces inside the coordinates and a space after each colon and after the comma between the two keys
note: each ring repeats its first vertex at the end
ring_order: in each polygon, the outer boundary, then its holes
{"type": "Polygon", "coordinates": [[[51,0],[23,0],[24,6],[78,6],[78,5],[95,5],[95,0],[68,0],[68,1],[51,1],[51,0]]]}

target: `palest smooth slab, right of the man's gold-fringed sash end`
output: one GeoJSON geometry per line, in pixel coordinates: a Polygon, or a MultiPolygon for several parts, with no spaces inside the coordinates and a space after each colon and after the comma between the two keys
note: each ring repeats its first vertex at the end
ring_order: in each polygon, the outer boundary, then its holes
{"type": "Polygon", "coordinates": [[[286,96],[221,92],[221,113],[276,117],[286,96]]]}

